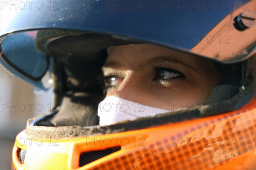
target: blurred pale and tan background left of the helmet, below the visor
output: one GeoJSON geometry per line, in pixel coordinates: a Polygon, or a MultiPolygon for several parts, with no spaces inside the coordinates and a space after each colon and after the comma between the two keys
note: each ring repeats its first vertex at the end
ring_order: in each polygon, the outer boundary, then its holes
{"type": "Polygon", "coordinates": [[[52,100],[52,91],[35,94],[32,85],[0,65],[0,170],[11,169],[15,137],[26,120],[48,112],[52,100]]]}

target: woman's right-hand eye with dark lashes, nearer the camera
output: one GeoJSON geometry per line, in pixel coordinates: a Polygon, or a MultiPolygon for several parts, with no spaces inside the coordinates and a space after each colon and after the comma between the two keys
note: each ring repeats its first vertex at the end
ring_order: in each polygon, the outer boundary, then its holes
{"type": "Polygon", "coordinates": [[[157,80],[160,82],[173,81],[173,80],[177,80],[180,77],[185,77],[184,74],[172,68],[154,68],[154,69],[157,71],[154,77],[154,80],[157,80]]]}

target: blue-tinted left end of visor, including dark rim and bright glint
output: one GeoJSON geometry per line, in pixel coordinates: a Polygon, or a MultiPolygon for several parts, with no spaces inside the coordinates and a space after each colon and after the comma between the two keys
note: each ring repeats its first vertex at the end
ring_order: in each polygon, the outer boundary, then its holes
{"type": "Polygon", "coordinates": [[[35,85],[35,89],[42,92],[48,91],[53,83],[52,58],[36,47],[37,32],[26,31],[2,37],[0,62],[11,74],[35,85]]]}

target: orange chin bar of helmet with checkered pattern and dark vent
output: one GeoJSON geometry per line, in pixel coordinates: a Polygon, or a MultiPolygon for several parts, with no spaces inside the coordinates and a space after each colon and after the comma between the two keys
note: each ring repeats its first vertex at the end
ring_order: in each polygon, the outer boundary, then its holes
{"type": "Polygon", "coordinates": [[[142,130],[49,139],[23,130],[12,169],[255,169],[255,113],[254,97],[237,111],[142,130]]]}

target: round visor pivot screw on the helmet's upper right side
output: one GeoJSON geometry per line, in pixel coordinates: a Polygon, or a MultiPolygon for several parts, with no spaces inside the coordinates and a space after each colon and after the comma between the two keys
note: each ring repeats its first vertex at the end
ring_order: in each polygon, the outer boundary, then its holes
{"type": "Polygon", "coordinates": [[[244,31],[255,24],[255,14],[252,11],[243,11],[239,16],[235,17],[234,26],[239,31],[244,31]]]}

